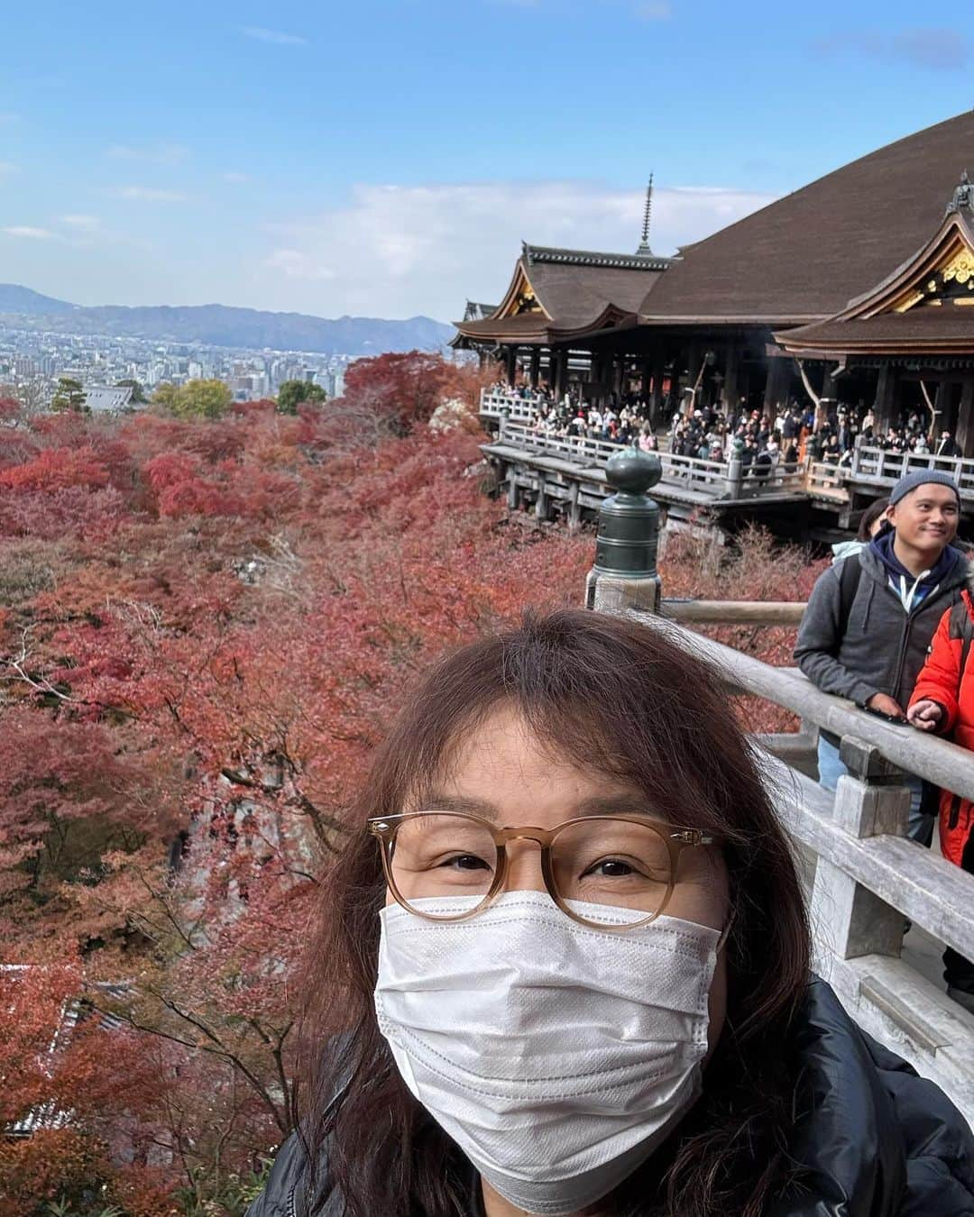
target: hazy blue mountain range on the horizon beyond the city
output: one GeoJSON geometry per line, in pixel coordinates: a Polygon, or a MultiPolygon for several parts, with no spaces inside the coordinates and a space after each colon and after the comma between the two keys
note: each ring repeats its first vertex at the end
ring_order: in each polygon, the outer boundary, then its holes
{"type": "Polygon", "coordinates": [[[150,342],[205,343],[326,355],[376,355],[384,350],[438,350],[453,327],[429,316],[390,321],[373,316],[329,320],[306,313],[265,313],[226,304],[100,304],[88,308],[0,284],[0,330],[50,330],[150,342]]]}

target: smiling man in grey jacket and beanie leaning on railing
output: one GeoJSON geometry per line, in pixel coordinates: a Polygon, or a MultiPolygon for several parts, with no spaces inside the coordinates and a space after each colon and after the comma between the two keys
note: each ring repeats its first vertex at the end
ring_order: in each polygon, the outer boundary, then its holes
{"type": "MultiPolygon", "coordinates": [[[[795,658],[823,692],[906,717],[937,623],[961,599],[968,578],[967,559],[951,545],[959,516],[961,497],[950,475],[907,473],[890,494],[889,527],[818,577],[799,627],[795,658]],[[858,563],[858,571],[849,563],[858,563]]],[[[819,783],[835,790],[844,773],[838,739],[822,733],[819,783]]],[[[935,800],[923,798],[919,778],[911,778],[909,785],[909,836],[929,845],[935,800]]]]}

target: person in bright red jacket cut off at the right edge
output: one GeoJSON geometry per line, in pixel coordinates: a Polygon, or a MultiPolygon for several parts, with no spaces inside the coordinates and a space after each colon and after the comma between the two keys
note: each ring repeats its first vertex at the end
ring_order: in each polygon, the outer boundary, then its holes
{"type": "MultiPolygon", "coordinates": [[[[930,644],[907,718],[922,731],[950,735],[962,748],[974,751],[974,662],[969,650],[974,640],[974,576],[948,608],[930,644]]],[[[940,849],[955,865],[974,874],[974,803],[948,790],[940,792],[940,849]]],[[[944,952],[944,980],[947,993],[974,1013],[974,964],[951,947],[944,952]]]]}

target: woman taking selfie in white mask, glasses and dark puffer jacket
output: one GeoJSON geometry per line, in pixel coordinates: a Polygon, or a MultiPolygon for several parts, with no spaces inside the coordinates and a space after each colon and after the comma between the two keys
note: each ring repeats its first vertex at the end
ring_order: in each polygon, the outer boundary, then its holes
{"type": "Polygon", "coordinates": [[[310,1111],[251,1217],[974,1215],[967,1125],[810,977],[748,745],[656,632],[463,647],[352,823],[310,1111]]]}

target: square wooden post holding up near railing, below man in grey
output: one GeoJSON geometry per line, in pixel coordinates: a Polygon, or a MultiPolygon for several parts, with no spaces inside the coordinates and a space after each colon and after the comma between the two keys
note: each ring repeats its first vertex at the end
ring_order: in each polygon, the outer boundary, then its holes
{"type": "MultiPolygon", "coordinates": [[[[909,817],[909,787],[879,748],[856,736],[843,738],[839,756],[849,776],[839,779],[834,818],[851,837],[903,836],[909,817]]],[[[829,978],[833,959],[899,955],[903,914],[857,884],[834,863],[819,858],[810,908],[816,966],[829,978]]]]}

